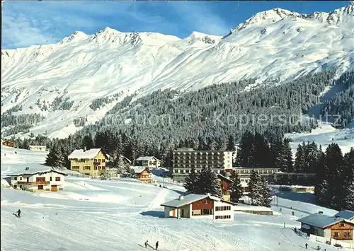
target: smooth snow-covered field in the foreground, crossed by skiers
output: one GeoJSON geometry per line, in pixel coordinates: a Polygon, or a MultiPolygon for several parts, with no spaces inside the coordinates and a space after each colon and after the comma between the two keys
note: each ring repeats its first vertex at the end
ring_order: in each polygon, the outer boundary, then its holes
{"type": "MultiPolygon", "coordinates": [[[[44,159],[41,152],[1,146],[1,174],[44,159]]],[[[1,187],[1,250],[142,250],[146,240],[152,246],[159,241],[159,250],[305,250],[305,243],[318,243],[295,235],[295,220],[319,210],[336,213],[314,206],[311,199],[301,202],[301,194],[296,198],[280,193],[279,206],[272,207],[275,216],[235,213],[234,221],[215,222],[163,218],[160,204],[184,192],[181,185],[167,187],[79,177],[67,177],[60,192],[34,194],[1,187]],[[12,215],[18,209],[21,218],[12,215]]]]}

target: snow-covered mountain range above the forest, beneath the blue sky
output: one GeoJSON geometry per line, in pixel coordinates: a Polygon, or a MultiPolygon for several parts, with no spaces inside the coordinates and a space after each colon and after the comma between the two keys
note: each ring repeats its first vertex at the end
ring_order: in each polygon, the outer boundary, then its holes
{"type": "Polygon", "coordinates": [[[353,70],[353,6],[312,15],[275,8],[224,37],[105,28],[95,35],[76,32],[57,45],[5,49],[1,112],[40,113],[45,118],[32,132],[65,137],[81,128],[78,117],[95,122],[132,93],[191,91],[242,78],[257,78],[257,86],[312,71],[353,70]]]}

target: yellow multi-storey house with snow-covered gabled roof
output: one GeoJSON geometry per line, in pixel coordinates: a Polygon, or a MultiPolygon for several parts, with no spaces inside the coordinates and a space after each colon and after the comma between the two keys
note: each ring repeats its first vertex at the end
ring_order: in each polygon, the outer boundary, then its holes
{"type": "Polygon", "coordinates": [[[105,173],[106,159],[101,148],[76,149],[69,155],[70,169],[84,175],[100,177],[105,173]]]}

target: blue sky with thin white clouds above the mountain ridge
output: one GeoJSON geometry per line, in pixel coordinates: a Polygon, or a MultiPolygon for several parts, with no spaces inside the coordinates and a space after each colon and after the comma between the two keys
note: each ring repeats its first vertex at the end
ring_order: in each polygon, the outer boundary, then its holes
{"type": "Polygon", "coordinates": [[[226,35],[253,14],[271,8],[299,13],[333,11],[349,1],[2,1],[2,49],[56,43],[80,30],[193,31],[226,35]]]}

